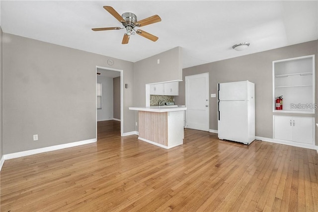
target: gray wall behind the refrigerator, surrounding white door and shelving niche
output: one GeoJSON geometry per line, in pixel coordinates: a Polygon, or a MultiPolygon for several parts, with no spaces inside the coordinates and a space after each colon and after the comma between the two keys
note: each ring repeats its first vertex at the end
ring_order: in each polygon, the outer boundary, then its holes
{"type": "MultiPolygon", "coordinates": [[[[179,82],[179,96],[175,96],[175,102],[185,104],[184,80],[187,75],[209,72],[210,94],[217,93],[217,83],[249,80],[255,83],[255,134],[259,137],[273,138],[272,61],[315,54],[317,70],[317,43],[318,41],[311,41],[183,69],[183,81],[179,82]]],[[[316,96],[317,75],[316,71],[316,96]]],[[[300,116],[315,116],[316,123],[318,121],[317,112],[316,115],[300,116]]],[[[210,129],[218,130],[217,98],[210,98],[210,129]]]]}

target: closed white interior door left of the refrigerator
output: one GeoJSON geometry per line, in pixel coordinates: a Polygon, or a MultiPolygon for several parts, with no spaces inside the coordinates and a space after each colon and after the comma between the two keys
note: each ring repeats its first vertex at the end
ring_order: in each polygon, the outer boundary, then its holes
{"type": "Polygon", "coordinates": [[[186,128],[209,131],[209,73],[185,77],[186,128]]]}

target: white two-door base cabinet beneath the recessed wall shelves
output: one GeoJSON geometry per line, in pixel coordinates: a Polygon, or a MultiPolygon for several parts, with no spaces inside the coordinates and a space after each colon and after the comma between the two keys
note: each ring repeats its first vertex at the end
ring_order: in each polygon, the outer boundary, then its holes
{"type": "Polygon", "coordinates": [[[314,144],[313,117],[273,116],[274,139],[314,144]]]}

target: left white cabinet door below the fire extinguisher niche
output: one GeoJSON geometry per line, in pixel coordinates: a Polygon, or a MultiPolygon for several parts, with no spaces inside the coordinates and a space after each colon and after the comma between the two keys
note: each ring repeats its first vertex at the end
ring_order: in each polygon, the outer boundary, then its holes
{"type": "Polygon", "coordinates": [[[274,139],[292,141],[292,122],[290,116],[274,116],[274,139]]]}

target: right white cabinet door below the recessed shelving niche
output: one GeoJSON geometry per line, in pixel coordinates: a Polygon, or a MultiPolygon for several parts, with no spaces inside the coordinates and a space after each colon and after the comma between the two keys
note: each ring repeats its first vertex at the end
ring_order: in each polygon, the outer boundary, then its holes
{"type": "Polygon", "coordinates": [[[293,141],[314,143],[314,118],[293,117],[293,141]]]}

